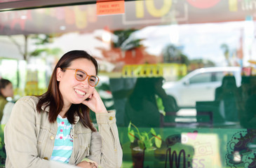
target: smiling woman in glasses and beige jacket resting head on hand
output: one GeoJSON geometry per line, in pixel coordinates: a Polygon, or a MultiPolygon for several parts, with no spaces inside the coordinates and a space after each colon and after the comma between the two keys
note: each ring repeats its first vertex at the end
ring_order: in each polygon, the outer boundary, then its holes
{"type": "Polygon", "coordinates": [[[48,160],[78,167],[121,167],[115,114],[107,112],[95,90],[96,74],[97,62],[87,52],[67,52],[55,66],[45,94],[15,103],[4,132],[7,168],[49,167],[48,160]],[[99,132],[89,110],[96,113],[99,132]]]}

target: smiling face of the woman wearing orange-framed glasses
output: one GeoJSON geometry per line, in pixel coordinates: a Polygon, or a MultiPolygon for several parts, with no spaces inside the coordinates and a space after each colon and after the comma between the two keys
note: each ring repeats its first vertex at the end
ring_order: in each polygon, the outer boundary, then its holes
{"type": "Polygon", "coordinates": [[[96,75],[96,70],[93,62],[86,58],[75,59],[71,62],[71,65],[67,67],[65,71],[57,70],[57,80],[60,82],[59,88],[62,94],[62,98],[65,106],[71,106],[71,104],[81,104],[83,100],[90,97],[95,90],[88,84],[88,76],[86,80],[79,81],[75,78],[75,70],[82,69],[86,71],[88,75],[96,75]]]}

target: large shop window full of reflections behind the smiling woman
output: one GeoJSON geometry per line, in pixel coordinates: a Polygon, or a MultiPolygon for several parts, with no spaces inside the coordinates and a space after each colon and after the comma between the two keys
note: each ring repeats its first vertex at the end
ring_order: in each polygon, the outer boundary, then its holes
{"type": "Polygon", "coordinates": [[[86,50],[116,111],[123,168],[255,165],[255,1],[125,1],[104,15],[96,1],[63,2],[0,7],[0,74],[15,100],[45,92],[58,59],[86,50]],[[147,150],[130,141],[130,122],[147,150]]]}

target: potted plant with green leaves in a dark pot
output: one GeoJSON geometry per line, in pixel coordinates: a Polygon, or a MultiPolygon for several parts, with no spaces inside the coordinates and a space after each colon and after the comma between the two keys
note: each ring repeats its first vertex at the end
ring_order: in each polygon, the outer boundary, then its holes
{"type": "Polygon", "coordinates": [[[128,138],[130,139],[133,158],[133,167],[143,167],[144,152],[154,151],[161,148],[162,139],[160,134],[156,134],[154,128],[149,132],[140,132],[140,130],[130,122],[128,125],[128,138]],[[132,129],[132,126],[135,130],[132,129]]]}

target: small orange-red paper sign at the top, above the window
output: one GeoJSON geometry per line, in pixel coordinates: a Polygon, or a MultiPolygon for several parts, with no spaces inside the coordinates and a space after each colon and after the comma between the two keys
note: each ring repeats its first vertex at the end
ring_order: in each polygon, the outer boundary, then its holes
{"type": "Polygon", "coordinates": [[[97,15],[124,13],[123,1],[97,1],[97,15]]]}

